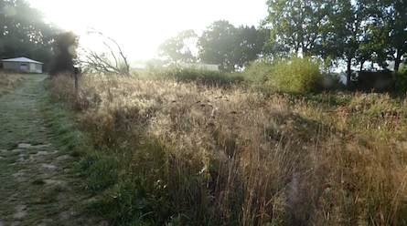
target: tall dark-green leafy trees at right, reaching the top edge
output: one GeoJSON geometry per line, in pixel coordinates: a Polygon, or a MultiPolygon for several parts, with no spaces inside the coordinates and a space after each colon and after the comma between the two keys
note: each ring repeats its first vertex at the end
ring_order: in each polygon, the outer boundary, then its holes
{"type": "Polygon", "coordinates": [[[331,57],[352,65],[366,61],[397,70],[407,52],[407,2],[403,0],[269,0],[262,26],[273,56],[331,57]]]}

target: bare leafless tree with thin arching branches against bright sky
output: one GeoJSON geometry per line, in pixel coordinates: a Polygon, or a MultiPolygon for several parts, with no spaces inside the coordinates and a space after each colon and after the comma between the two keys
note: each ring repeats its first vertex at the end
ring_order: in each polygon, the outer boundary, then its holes
{"type": "Polygon", "coordinates": [[[89,28],[88,35],[102,37],[102,45],[105,47],[102,52],[92,50],[89,47],[81,46],[83,52],[80,58],[80,65],[85,70],[101,74],[119,74],[125,77],[130,76],[130,65],[127,56],[124,55],[122,48],[110,36],[105,36],[102,32],[89,28]]]}

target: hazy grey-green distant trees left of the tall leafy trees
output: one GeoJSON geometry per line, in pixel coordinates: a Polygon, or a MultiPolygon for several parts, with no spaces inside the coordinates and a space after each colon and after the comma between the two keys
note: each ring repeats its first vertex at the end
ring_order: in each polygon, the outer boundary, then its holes
{"type": "Polygon", "coordinates": [[[267,36],[264,30],[254,26],[236,27],[220,20],[207,27],[202,36],[193,30],[178,33],[158,46],[157,52],[169,64],[199,61],[230,72],[261,56],[267,36]]]}

